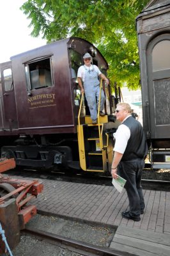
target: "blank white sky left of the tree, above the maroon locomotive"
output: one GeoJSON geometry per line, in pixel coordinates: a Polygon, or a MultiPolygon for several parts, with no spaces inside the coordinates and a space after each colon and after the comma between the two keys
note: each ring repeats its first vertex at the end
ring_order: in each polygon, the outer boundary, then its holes
{"type": "Polygon", "coordinates": [[[42,38],[33,38],[26,15],[19,9],[26,0],[0,0],[0,63],[10,57],[46,44],[42,38]]]}

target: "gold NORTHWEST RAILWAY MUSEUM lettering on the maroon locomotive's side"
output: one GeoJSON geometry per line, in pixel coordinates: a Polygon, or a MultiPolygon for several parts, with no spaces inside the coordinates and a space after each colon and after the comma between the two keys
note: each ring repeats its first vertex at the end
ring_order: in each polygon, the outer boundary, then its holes
{"type": "Polygon", "coordinates": [[[29,97],[27,102],[30,108],[45,108],[50,106],[56,106],[54,104],[55,94],[54,93],[43,93],[33,97],[29,97]]]}

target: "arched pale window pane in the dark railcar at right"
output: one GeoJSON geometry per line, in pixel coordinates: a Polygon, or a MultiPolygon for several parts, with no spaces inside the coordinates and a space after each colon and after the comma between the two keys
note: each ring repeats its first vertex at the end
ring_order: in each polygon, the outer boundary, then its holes
{"type": "Polygon", "coordinates": [[[170,41],[163,40],[152,51],[153,72],[170,68],[170,41]]]}

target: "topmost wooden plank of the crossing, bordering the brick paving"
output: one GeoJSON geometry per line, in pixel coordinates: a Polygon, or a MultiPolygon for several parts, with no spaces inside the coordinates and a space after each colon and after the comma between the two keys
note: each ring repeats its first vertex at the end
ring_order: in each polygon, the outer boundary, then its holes
{"type": "MultiPolygon", "coordinates": [[[[129,228],[129,227],[119,226],[116,231],[116,234],[134,237],[137,239],[143,239],[145,241],[150,241],[150,242],[158,243],[158,244],[164,244],[167,246],[170,245],[170,236],[169,235],[155,233],[155,232],[148,231],[148,230],[146,231],[146,230],[141,230],[141,229],[137,229],[137,228],[129,228]]],[[[170,253],[169,253],[169,255],[170,255],[170,253]]]]}

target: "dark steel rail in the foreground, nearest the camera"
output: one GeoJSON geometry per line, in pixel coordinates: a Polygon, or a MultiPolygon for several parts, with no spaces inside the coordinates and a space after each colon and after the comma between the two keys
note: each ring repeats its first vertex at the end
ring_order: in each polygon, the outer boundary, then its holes
{"type": "Polygon", "coordinates": [[[72,252],[78,252],[82,255],[102,255],[102,256],[135,256],[134,254],[128,252],[120,252],[118,250],[112,250],[109,248],[102,248],[100,246],[95,246],[93,244],[84,243],[81,241],[76,241],[68,237],[59,236],[43,230],[35,230],[33,228],[26,228],[22,230],[22,235],[33,236],[36,239],[43,240],[47,243],[52,243],[61,248],[67,248],[72,252]]]}

